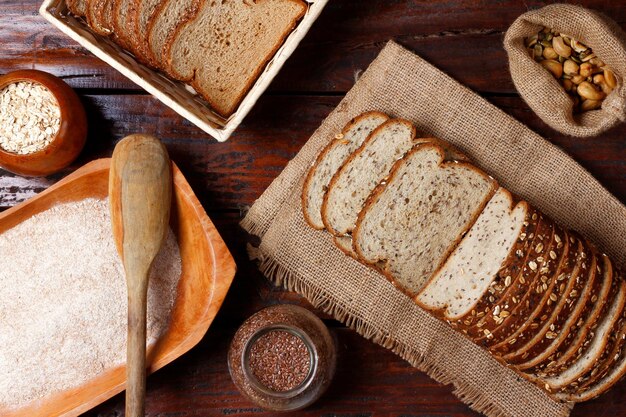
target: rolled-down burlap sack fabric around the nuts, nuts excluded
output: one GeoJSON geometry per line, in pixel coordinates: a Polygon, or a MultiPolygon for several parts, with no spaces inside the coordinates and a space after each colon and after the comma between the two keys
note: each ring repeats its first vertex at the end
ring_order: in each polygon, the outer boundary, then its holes
{"type": "Polygon", "coordinates": [[[626,120],[626,35],[606,16],[579,6],[552,4],[524,13],[504,38],[513,83],[531,109],[550,127],[571,136],[596,136],[626,120]],[[573,114],[573,102],[558,81],[526,47],[524,38],[548,27],[592,48],[618,76],[618,86],[600,110],[573,114]]]}

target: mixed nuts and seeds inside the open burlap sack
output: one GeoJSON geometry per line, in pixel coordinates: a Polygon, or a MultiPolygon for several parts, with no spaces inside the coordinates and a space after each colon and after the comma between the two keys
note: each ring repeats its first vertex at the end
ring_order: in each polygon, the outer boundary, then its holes
{"type": "Polygon", "coordinates": [[[526,38],[530,56],[544,66],[574,101],[574,112],[596,110],[617,86],[615,73],[591,48],[570,36],[543,28],[526,38]]]}

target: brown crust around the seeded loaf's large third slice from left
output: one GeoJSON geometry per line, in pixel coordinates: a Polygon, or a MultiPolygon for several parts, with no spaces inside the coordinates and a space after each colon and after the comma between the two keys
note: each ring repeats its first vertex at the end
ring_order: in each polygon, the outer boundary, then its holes
{"type": "MultiPolygon", "coordinates": [[[[377,265],[378,267],[376,269],[379,270],[387,278],[387,280],[389,280],[392,284],[394,284],[396,286],[396,288],[400,289],[404,294],[406,294],[407,296],[412,298],[414,300],[414,302],[417,303],[418,305],[420,305],[421,303],[419,303],[416,300],[416,298],[415,298],[417,294],[414,294],[411,291],[409,291],[408,289],[403,288],[402,286],[398,285],[398,283],[396,282],[395,278],[391,275],[391,273],[386,268],[387,260],[385,260],[385,259],[377,259],[377,260],[372,262],[372,261],[366,259],[365,255],[363,255],[363,252],[359,248],[357,242],[358,242],[358,236],[359,236],[359,233],[360,233],[361,224],[363,223],[363,218],[367,214],[367,211],[376,203],[378,198],[385,191],[385,189],[387,187],[387,184],[389,182],[393,181],[393,179],[395,178],[397,172],[400,170],[400,167],[404,163],[406,158],[410,157],[410,155],[412,155],[413,153],[416,153],[416,152],[419,152],[419,151],[423,150],[424,148],[432,148],[437,153],[439,153],[439,155],[440,155],[440,163],[438,165],[439,167],[445,167],[445,166],[448,166],[448,165],[456,165],[456,166],[462,165],[462,166],[466,167],[467,169],[474,170],[474,171],[484,175],[492,183],[492,189],[491,189],[491,192],[490,192],[489,196],[485,199],[485,201],[483,201],[482,206],[480,207],[479,210],[476,211],[476,214],[473,216],[473,218],[470,219],[470,221],[468,222],[468,224],[464,228],[464,233],[466,233],[472,227],[472,225],[476,222],[476,219],[478,218],[478,216],[480,215],[482,210],[485,208],[485,206],[487,205],[487,203],[489,202],[489,200],[491,199],[493,194],[498,189],[498,183],[493,178],[491,178],[487,174],[485,174],[483,171],[479,170],[478,168],[476,168],[475,166],[473,166],[472,164],[469,164],[467,162],[446,161],[446,159],[445,159],[445,152],[443,151],[443,149],[441,149],[439,146],[437,146],[435,144],[427,143],[427,144],[421,144],[421,145],[413,147],[410,151],[408,151],[404,155],[404,157],[402,159],[396,161],[396,163],[392,166],[391,171],[389,172],[389,175],[387,176],[387,179],[382,181],[380,184],[378,184],[378,186],[376,186],[374,188],[374,190],[370,193],[369,197],[365,201],[365,204],[363,205],[363,208],[361,209],[361,211],[360,211],[360,213],[359,213],[359,215],[357,217],[356,225],[355,225],[355,227],[354,227],[354,229],[352,231],[352,249],[354,250],[354,253],[356,253],[356,255],[359,258],[359,260],[361,260],[366,265],[370,265],[370,266],[377,265]]],[[[323,217],[324,216],[322,216],[322,218],[323,217]]],[[[439,268],[441,268],[441,265],[443,265],[443,263],[448,259],[448,257],[450,256],[450,253],[452,253],[452,250],[454,249],[454,247],[456,247],[456,244],[458,244],[458,242],[462,239],[464,233],[461,233],[460,236],[457,238],[456,243],[452,244],[451,247],[448,248],[447,253],[443,254],[442,260],[440,261],[439,265],[437,265],[437,267],[434,269],[434,271],[436,271],[439,268]]],[[[430,282],[431,279],[432,279],[432,276],[424,284],[424,287],[426,285],[428,285],[428,283],[430,282]]],[[[420,307],[424,308],[422,305],[420,305],[420,307]]]]}

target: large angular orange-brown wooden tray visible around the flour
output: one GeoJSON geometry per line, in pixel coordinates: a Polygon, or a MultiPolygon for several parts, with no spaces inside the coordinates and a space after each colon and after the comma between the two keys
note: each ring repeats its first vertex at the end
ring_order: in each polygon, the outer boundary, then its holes
{"type": "MultiPolygon", "coordinates": [[[[105,198],[110,159],[80,168],[36,197],[0,213],[0,233],[50,207],[85,198],[105,198]]],[[[191,187],[173,167],[174,195],[170,225],[182,258],[182,275],[167,332],[148,350],[148,372],[162,368],[195,346],[217,314],[235,275],[235,262],[191,187]]],[[[73,417],[123,391],[126,368],[107,369],[83,385],[34,401],[3,417],[73,417]]],[[[148,379],[148,386],[150,380],[148,379]]]]}

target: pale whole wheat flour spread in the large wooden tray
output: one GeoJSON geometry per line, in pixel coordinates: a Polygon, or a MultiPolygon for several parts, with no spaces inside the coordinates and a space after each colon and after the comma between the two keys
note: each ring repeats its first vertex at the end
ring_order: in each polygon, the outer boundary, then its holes
{"type": "MultiPolygon", "coordinates": [[[[148,344],[181,275],[170,231],[148,290],[148,344]]],[[[107,200],[55,206],[0,234],[0,409],[81,385],[126,359],[126,281],[107,200]]]]}

